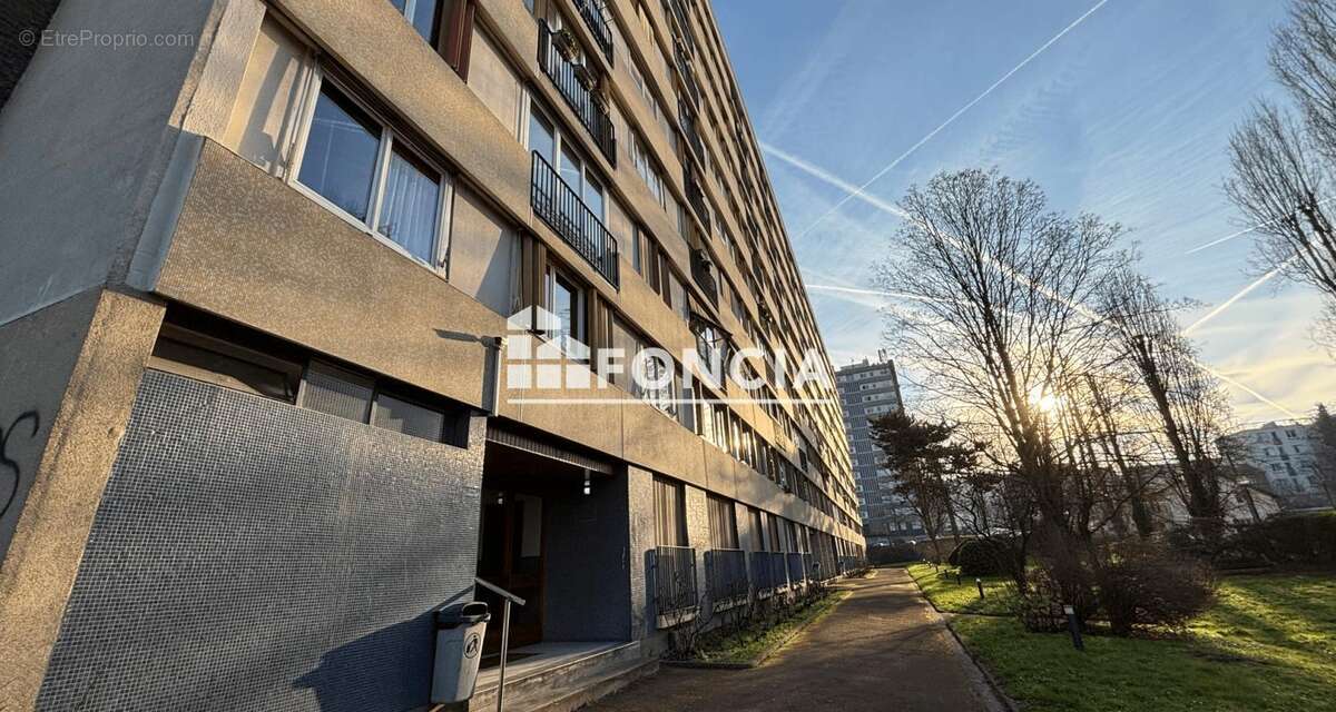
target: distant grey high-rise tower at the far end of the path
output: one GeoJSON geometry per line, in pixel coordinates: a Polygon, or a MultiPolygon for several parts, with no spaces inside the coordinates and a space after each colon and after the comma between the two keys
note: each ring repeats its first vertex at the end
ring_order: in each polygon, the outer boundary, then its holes
{"type": "Polygon", "coordinates": [[[922,538],[923,522],[892,492],[891,473],[882,466],[880,449],[872,441],[868,427],[870,418],[904,407],[895,362],[882,351],[876,362],[864,358],[842,366],[835,374],[835,383],[844,409],[844,431],[848,434],[858,512],[867,545],[886,546],[922,538]]]}

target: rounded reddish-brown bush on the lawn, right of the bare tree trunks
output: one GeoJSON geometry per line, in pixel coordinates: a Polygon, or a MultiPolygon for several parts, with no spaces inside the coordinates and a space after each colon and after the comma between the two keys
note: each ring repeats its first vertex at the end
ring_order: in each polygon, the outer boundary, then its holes
{"type": "Polygon", "coordinates": [[[1121,542],[1096,566],[1100,609],[1117,636],[1136,627],[1184,627],[1210,605],[1214,580],[1198,558],[1166,548],[1121,542]]]}

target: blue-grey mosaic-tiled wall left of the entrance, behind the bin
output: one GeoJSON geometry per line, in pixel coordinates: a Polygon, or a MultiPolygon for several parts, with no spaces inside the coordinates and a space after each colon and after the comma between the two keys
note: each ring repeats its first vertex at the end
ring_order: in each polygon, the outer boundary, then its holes
{"type": "Polygon", "coordinates": [[[39,709],[399,711],[472,592],[468,450],[147,371],[39,709]]]}

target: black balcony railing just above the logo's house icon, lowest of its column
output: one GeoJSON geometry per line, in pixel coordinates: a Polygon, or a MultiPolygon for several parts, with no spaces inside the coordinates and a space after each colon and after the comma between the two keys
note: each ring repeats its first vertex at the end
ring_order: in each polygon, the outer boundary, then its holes
{"type": "Polygon", "coordinates": [[[533,211],[552,226],[561,239],[574,247],[612,286],[620,286],[617,264],[617,238],[612,236],[603,220],[584,204],[570,186],[537,151],[533,152],[533,184],[530,191],[533,211]]]}

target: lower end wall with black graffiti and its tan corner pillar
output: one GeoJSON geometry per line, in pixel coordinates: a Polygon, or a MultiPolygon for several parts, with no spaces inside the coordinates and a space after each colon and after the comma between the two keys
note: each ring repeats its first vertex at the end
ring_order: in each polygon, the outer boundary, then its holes
{"type": "Polygon", "coordinates": [[[15,476],[27,488],[7,514],[17,522],[0,565],[0,709],[36,699],[162,315],[95,289],[0,331],[0,492],[15,476]],[[40,418],[33,438],[32,421],[20,418],[29,411],[40,418]]]}

